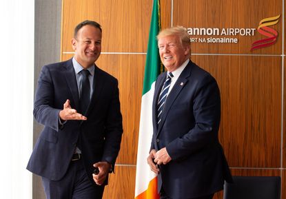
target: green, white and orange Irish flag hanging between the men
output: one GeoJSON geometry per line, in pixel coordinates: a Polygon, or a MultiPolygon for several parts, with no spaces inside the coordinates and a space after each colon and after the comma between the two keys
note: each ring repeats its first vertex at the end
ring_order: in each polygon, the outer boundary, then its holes
{"type": "Polygon", "coordinates": [[[161,67],[156,40],[156,35],[159,33],[160,29],[160,0],[153,0],[141,101],[141,118],[136,166],[136,199],[159,198],[157,191],[157,176],[150,170],[150,167],[147,164],[147,156],[149,155],[153,134],[152,101],[154,95],[154,83],[161,70],[163,70],[161,67]]]}

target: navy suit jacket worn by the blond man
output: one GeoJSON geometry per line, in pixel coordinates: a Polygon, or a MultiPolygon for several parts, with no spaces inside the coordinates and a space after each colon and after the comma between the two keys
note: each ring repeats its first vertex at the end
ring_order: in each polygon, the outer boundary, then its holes
{"type": "Polygon", "coordinates": [[[166,72],[156,80],[151,149],[166,147],[172,160],[160,165],[159,190],[174,199],[207,196],[232,177],[218,142],[221,100],[216,80],[190,61],[167,96],[157,125],[157,102],[166,72]]]}

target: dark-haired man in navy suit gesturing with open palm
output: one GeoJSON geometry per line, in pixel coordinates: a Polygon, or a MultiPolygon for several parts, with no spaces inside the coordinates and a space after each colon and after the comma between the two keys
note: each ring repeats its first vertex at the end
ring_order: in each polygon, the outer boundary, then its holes
{"type": "Polygon", "coordinates": [[[94,62],[101,25],[74,29],[74,57],[43,66],[34,118],[44,125],[27,169],[42,176],[49,199],[99,199],[113,171],[123,133],[116,78],[94,62]],[[93,174],[94,169],[99,174],[93,174]]]}

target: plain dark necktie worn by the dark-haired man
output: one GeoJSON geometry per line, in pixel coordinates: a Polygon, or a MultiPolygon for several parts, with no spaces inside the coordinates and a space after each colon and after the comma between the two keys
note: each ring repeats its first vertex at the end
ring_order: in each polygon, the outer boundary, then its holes
{"type": "Polygon", "coordinates": [[[90,104],[90,80],[88,76],[90,75],[89,70],[81,70],[83,76],[81,80],[81,97],[79,98],[80,103],[80,113],[85,115],[88,105],[90,104]]]}

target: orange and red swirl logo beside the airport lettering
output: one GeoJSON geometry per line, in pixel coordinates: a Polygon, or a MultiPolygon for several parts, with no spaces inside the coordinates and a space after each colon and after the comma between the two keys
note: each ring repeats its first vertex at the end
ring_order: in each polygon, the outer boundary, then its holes
{"type": "Polygon", "coordinates": [[[261,40],[258,40],[252,43],[251,51],[259,49],[259,48],[265,48],[265,47],[268,47],[276,43],[278,32],[274,30],[273,28],[269,28],[269,26],[275,25],[276,23],[278,23],[279,17],[280,17],[280,14],[276,17],[269,17],[269,18],[262,19],[259,22],[257,31],[260,34],[266,36],[267,38],[261,39],[261,40]]]}

